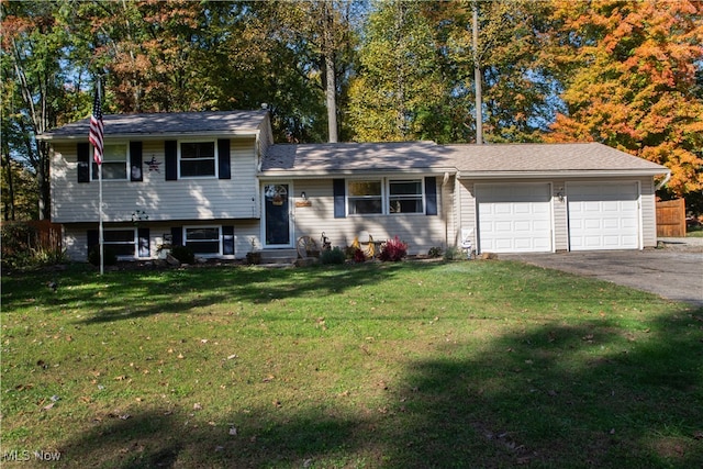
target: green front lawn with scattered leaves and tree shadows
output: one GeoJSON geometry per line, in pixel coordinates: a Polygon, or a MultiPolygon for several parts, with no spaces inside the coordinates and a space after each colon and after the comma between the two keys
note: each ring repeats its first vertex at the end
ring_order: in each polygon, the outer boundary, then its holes
{"type": "Polygon", "coordinates": [[[517,263],[71,266],[4,275],[1,320],[3,462],[703,460],[703,311],[517,263]]]}

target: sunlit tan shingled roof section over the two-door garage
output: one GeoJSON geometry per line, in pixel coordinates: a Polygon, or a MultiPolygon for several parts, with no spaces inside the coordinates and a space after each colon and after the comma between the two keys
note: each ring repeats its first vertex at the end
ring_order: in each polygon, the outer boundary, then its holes
{"type": "Polygon", "coordinates": [[[669,170],[600,143],[447,145],[461,177],[494,174],[628,172],[661,175],[669,170]]]}

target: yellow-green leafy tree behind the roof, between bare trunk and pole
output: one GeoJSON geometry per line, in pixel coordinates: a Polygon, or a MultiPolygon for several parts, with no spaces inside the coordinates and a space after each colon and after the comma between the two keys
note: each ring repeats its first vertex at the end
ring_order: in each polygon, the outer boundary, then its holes
{"type": "Polygon", "coordinates": [[[360,63],[349,90],[356,138],[417,138],[426,110],[438,105],[444,96],[435,67],[435,42],[420,14],[420,3],[377,3],[369,16],[360,63]]]}

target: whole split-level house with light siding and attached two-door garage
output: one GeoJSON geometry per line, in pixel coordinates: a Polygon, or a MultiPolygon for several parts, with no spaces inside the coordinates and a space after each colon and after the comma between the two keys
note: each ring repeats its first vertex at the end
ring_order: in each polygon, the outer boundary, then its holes
{"type": "MultiPolygon", "coordinates": [[[[52,147],[52,217],[67,254],[98,243],[89,120],[40,135],[52,147]]],[[[348,246],[399,236],[410,254],[656,246],[655,178],[667,168],[598,143],[274,144],[258,111],[104,115],[104,243],[123,259],[165,244],[201,257],[348,246]]],[[[660,183],[662,183],[660,182],[660,183]]]]}

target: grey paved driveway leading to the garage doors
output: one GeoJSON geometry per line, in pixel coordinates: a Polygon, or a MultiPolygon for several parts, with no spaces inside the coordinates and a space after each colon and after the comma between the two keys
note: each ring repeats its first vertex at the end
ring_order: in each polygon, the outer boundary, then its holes
{"type": "MultiPolygon", "coordinates": [[[[687,238],[688,239],[688,238],[687,238]]],[[[504,254],[501,259],[595,277],[703,306],[703,238],[661,241],[658,249],[558,254],[504,254]]]]}

